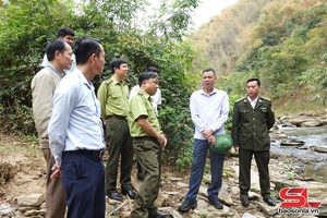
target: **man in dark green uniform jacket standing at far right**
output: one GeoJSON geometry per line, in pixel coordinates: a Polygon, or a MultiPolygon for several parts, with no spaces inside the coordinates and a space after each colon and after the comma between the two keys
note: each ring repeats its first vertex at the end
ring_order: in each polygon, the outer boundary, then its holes
{"type": "Polygon", "coordinates": [[[258,173],[261,193],[269,206],[275,206],[275,201],[270,197],[269,181],[269,129],[275,123],[275,114],[271,110],[269,99],[258,96],[261,81],[250,78],[246,82],[247,96],[234,104],[232,120],[232,138],[235,149],[239,148],[240,161],[240,195],[241,204],[249,206],[249,191],[251,187],[251,161],[254,156],[258,173]]]}

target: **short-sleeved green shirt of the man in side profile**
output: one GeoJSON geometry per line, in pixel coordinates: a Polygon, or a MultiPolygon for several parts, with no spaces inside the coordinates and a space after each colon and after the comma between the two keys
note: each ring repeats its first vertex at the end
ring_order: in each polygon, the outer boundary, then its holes
{"type": "Polygon", "coordinates": [[[132,137],[150,136],[137,123],[141,116],[147,117],[149,124],[159,133],[161,133],[160,124],[153,107],[153,98],[140,88],[136,96],[130,100],[130,110],[128,116],[130,132],[132,137]]]}

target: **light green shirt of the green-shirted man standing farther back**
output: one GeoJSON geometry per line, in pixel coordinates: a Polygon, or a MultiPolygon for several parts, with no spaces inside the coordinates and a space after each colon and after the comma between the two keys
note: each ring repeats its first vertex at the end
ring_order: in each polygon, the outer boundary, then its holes
{"type": "Polygon", "coordinates": [[[101,118],[107,116],[126,117],[129,112],[129,86],[125,82],[118,82],[114,76],[104,81],[97,97],[101,104],[101,118]]]}

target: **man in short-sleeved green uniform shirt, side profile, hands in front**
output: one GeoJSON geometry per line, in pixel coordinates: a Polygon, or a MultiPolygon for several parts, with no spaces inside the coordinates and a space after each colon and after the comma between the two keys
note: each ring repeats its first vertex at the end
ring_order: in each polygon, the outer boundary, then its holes
{"type": "Polygon", "coordinates": [[[141,164],[144,180],[134,201],[132,218],[164,218],[168,214],[154,205],[160,187],[161,147],[167,138],[156,117],[152,96],[158,89],[158,75],[144,72],[138,77],[140,90],[129,106],[129,126],[133,136],[133,147],[141,164]]]}

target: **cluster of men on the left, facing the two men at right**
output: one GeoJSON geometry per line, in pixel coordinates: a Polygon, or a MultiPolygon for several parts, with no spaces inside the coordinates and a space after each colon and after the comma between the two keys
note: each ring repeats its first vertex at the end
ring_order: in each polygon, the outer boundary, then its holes
{"type": "Polygon", "coordinates": [[[123,194],[137,205],[132,217],[167,217],[154,205],[160,183],[160,149],[167,145],[152,97],[158,89],[156,69],[140,75],[136,94],[129,101],[123,81],[128,63],[113,59],[109,63],[112,76],[96,95],[92,80],[102,73],[104,47],[96,38],[82,37],[72,50],[73,37],[69,28],[58,32],[58,39],[46,47],[46,66],[31,84],[36,129],[47,160],[47,216],[64,217],[68,207],[66,217],[101,218],[106,195],[122,201],[123,194]],[[76,68],[70,70],[74,59],[76,68]],[[106,169],[104,124],[109,150],[106,169]],[[135,149],[144,174],[140,194],[131,184],[133,138],[134,147],[140,143],[148,146],[135,149]],[[156,152],[147,150],[152,147],[156,152]],[[117,190],[119,161],[121,194],[117,190]]]}

